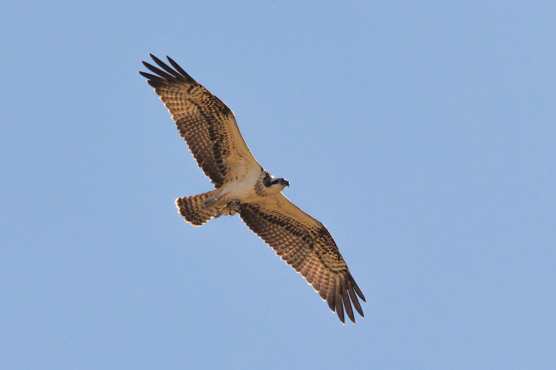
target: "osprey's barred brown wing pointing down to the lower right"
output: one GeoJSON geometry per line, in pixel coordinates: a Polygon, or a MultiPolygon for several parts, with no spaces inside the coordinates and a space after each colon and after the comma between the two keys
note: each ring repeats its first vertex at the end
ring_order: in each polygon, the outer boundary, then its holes
{"type": "Polygon", "coordinates": [[[347,316],[355,323],[351,302],[363,317],[357,295],[363,293],[351,276],[346,262],[330,232],[321,222],[307,215],[281,193],[265,197],[257,203],[240,205],[245,224],[259,235],[276,255],[301,273],[307,283],[336,311],[344,322],[347,316]]]}

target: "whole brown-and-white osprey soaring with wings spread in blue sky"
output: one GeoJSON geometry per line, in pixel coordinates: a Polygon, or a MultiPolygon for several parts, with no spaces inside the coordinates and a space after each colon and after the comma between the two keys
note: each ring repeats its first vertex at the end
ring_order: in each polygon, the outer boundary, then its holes
{"type": "Polygon", "coordinates": [[[139,72],[170,111],[180,135],[215,190],[176,200],[181,216],[193,226],[213,217],[240,215],[276,255],[301,273],[330,310],[344,323],[344,309],[355,323],[359,295],[365,297],[326,227],[289,201],[281,191],[290,185],[275,178],[256,161],[237,127],[234,113],[170,57],[170,66],[149,54],[162,69],[143,62],[139,72]]]}

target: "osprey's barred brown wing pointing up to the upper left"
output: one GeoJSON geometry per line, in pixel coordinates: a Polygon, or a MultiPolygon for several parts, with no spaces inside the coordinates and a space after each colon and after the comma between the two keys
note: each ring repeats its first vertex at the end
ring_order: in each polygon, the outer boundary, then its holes
{"type": "Polygon", "coordinates": [[[215,187],[244,175],[254,166],[260,167],[247,148],[230,108],[169,57],[166,58],[175,69],[149,55],[163,70],[143,62],[158,76],[139,73],[155,88],[199,167],[215,187]]]}

